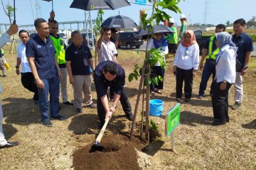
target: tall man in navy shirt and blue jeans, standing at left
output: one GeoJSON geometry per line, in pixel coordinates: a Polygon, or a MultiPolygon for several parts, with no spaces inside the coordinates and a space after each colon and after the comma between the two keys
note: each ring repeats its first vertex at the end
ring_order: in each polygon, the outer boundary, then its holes
{"type": "Polygon", "coordinates": [[[43,18],[34,22],[37,35],[26,43],[26,56],[38,87],[41,122],[53,126],[49,118],[48,94],[50,93],[50,115],[52,119],[65,120],[59,114],[60,79],[62,74],[55,57],[55,48],[49,36],[49,26],[43,18]]]}

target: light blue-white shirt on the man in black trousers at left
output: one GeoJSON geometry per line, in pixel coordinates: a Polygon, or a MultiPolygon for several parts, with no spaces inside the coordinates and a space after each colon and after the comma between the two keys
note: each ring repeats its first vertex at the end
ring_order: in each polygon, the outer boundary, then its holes
{"type": "Polygon", "coordinates": [[[23,43],[19,44],[17,47],[17,57],[21,59],[21,73],[31,72],[26,57],[26,45],[23,45],[23,43]]]}

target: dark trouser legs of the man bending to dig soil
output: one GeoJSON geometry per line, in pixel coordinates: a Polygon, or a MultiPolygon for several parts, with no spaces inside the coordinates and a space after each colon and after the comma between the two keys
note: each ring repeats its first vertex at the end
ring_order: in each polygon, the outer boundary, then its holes
{"type": "MultiPolygon", "coordinates": [[[[129,113],[132,113],[131,104],[129,103],[129,99],[128,99],[127,95],[124,93],[124,91],[122,91],[122,94],[120,96],[120,103],[121,103],[122,109],[126,115],[129,113]]],[[[99,116],[99,120],[101,122],[104,122],[106,112],[105,112],[105,108],[103,107],[102,102],[100,100],[100,96],[97,96],[97,113],[99,116]]]]}

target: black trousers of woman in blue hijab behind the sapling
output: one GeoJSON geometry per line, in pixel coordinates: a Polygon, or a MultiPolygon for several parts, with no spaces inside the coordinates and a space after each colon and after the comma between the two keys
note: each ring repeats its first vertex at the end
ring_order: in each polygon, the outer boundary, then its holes
{"type": "Polygon", "coordinates": [[[164,88],[164,68],[161,68],[161,66],[154,66],[150,73],[150,77],[153,78],[154,76],[161,76],[163,78],[163,81],[159,80],[158,85],[154,84],[153,81],[151,82],[150,90],[155,92],[156,89],[164,88]]]}

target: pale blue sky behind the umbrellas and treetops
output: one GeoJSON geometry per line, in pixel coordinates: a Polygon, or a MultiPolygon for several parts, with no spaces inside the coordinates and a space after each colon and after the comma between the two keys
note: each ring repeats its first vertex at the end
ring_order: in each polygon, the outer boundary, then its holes
{"type": "MultiPolygon", "coordinates": [[[[2,1],[4,4],[9,2],[11,6],[13,6],[13,0],[2,1]]],[[[34,18],[45,18],[48,20],[49,13],[52,10],[51,2],[37,1],[41,6],[41,13],[39,10],[36,10],[36,0],[16,0],[16,23],[18,25],[33,24],[34,18]]],[[[69,7],[72,1],[73,0],[53,0],[56,21],[85,20],[84,11],[69,7]]],[[[233,23],[238,18],[244,18],[245,21],[248,21],[252,16],[256,16],[255,6],[256,0],[181,0],[180,4],[178,4],[181,12],[187,16],[189,23],[211,23],[213,25],[217,25],[218,23],[225,24],[227,21],[233,23]],[[208,5],[206,5],[206,2],[208,2],[208,5]]],[[[129,16],[139,24],[139,10],[142,9],[149,10],[147,11],[148,14],[151,13],[151,6],[132,4],[132,6],[118,8],[114,11],[105,10],[103,19],[120,14],[129,16]]],[[[167,11],[167,13],[174,18],[175,23],[179,26],[179,17],[181,14],[172,11],[167,11]]],[[[95,19],[97,17],[97,11],[91,11],[91,16],[92,19],[95,19]]],[[[9,23],[2,6],[0,7],[0,23],[9,23]]]]}

